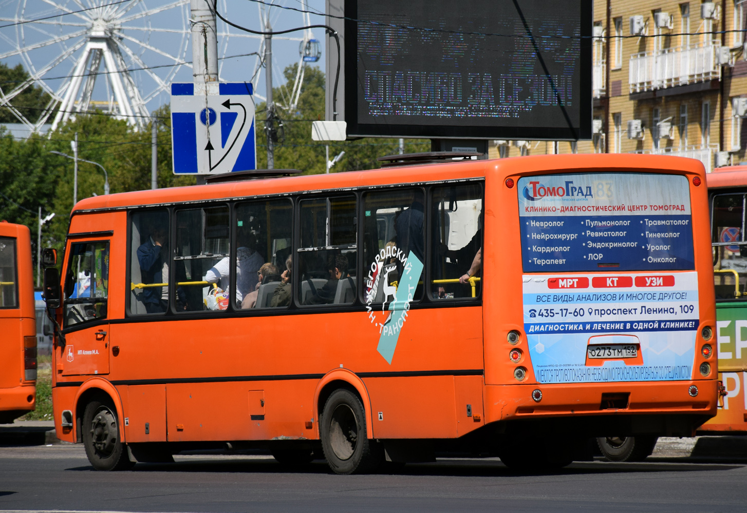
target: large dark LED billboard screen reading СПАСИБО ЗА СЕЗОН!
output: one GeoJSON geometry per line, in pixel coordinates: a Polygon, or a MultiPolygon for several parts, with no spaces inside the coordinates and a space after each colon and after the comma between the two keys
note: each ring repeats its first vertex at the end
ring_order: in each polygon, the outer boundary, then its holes
{"type": "Polygon", "coordinates": [[[589,139],[591,0],[345,0],[348,136],[589,139]]]}

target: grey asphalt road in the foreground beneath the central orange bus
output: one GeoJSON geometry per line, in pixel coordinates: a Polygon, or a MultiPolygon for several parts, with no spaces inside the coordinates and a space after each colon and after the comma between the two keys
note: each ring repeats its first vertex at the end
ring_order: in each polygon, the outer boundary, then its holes
{"type": "MultiPolygon", "coordinates": [[[[655,456],[655,455],[654,455],[655,456]]],[[[266,456],[176,456],[96,472],[80,445],[0,447],[0,510],[120,512],[745,512],[745,462],[654,458],[521,475],[498,459],[439,459],[398,475],[288,469],[266,456]]]]}

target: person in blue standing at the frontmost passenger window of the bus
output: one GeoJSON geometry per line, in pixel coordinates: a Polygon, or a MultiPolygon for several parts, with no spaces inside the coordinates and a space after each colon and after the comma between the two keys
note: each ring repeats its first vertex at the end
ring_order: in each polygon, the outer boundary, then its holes
{"type": "MultiPolygon", "coordinates": [[[[143,283],[167,283],[168,265],[164,254],[167,243],[167,230],[154,225],[149,230],[146,242],[137,248],[137,262],[140,263],[140,277],[143,283]]],[[[142,239],[141,239],[142,240],[142,239]]],[[[146,287],[143,289],[143,305],[148,313],[163,313],[168,307],[168,287],[146,287]]]]}

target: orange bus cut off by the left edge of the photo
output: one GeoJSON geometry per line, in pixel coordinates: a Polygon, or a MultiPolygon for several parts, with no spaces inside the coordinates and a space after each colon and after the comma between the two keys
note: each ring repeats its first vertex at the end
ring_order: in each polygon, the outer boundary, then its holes
{"type": "Polygon", "coordinates": [[[0,424],[36,406],[37,330],[28,227],[0,221],[0,424]]]}

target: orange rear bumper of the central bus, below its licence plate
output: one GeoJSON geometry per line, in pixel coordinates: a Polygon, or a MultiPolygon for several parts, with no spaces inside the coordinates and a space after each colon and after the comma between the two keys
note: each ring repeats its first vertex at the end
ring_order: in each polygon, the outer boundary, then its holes
{"type": "MultiPolygon", "coordinates": [[[[657,383],[554,383],[549,385],[486,385],[487,422],[557,417],[614,415],[716,415],[716,380],[657,383]],[[698,394],[692,397],[690,387],[698,394]],[[539,400],[533,399],[533,391],[539,400]]],[[[699,424],[692,426],[694,429],[699,424]]]]}

